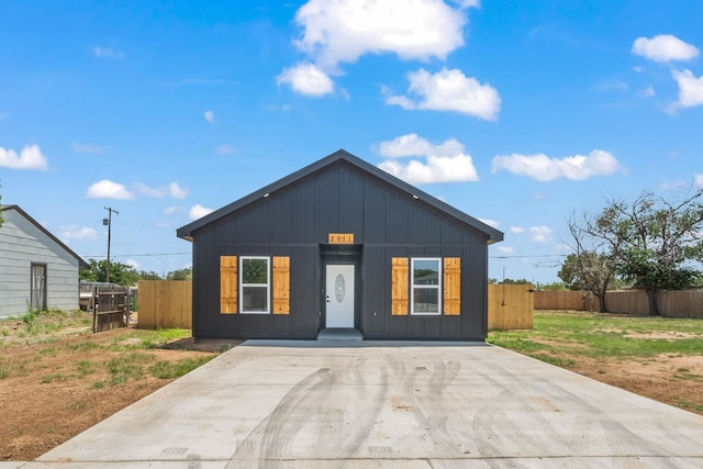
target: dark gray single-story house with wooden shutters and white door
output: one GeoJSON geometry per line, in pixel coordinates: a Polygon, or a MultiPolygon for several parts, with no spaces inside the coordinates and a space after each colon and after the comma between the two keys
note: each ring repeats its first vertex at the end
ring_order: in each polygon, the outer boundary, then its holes
{"type": "Polygon", "coordinates": [[[484,340],[503,233],[338,150],[177,231],[193,336],[484,340]]]}

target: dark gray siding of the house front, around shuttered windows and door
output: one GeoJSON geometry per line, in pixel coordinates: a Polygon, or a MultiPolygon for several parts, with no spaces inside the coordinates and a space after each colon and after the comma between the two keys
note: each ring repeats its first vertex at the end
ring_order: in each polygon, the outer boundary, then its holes
{"type": "Polygon", "coordinates": [[[197,338],[315,338],[325,266],[355,266],[354,327],[367,339],[482,340],[488,245],[502,233],[339,150],[178,230],[193,243],[197,338]],[[331,233],[354,244],[328,244],[331,233]],[[221,256],[290,259],[290,314],[221,314],[221,256]],[[392,259],[459,258],[458,315],[392,315],[392,259]]]}

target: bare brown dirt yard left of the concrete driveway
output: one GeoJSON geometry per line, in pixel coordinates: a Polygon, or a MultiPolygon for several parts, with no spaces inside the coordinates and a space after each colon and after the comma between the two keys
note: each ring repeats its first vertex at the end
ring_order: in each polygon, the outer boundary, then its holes
{"type": "Polygon", "coordinates": [[[198,347],[192,339],[138,348],[133,328],[90,334],[83,326],[23,336],[18,323],[0,323],[0,460],[32,460],[174,381],[153,376],[155,362],[203,360],[225,349],[198,347]],[[113,360],[142,371],[115,375],[113,360]]]}

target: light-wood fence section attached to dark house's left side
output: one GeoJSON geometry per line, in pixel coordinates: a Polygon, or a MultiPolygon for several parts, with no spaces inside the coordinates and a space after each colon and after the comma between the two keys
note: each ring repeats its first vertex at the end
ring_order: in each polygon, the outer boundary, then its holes
{"type": "Polygon", "coordinates": [[[192,328],[192,281],[140,281],[142,328],[192,328]]]}

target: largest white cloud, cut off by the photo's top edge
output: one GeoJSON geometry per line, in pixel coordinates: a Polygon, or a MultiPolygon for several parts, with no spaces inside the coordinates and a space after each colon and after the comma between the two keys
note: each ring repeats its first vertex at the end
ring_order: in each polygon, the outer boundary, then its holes
{"type": "Polygon", "coordinates": [[[437,0],[310,0],[295,13],[304,32],[293,43],[328,70],[365,54],[444,59],[464,45],[464,10],[477,4],[462,1],[453,9],[437,0]]]}

